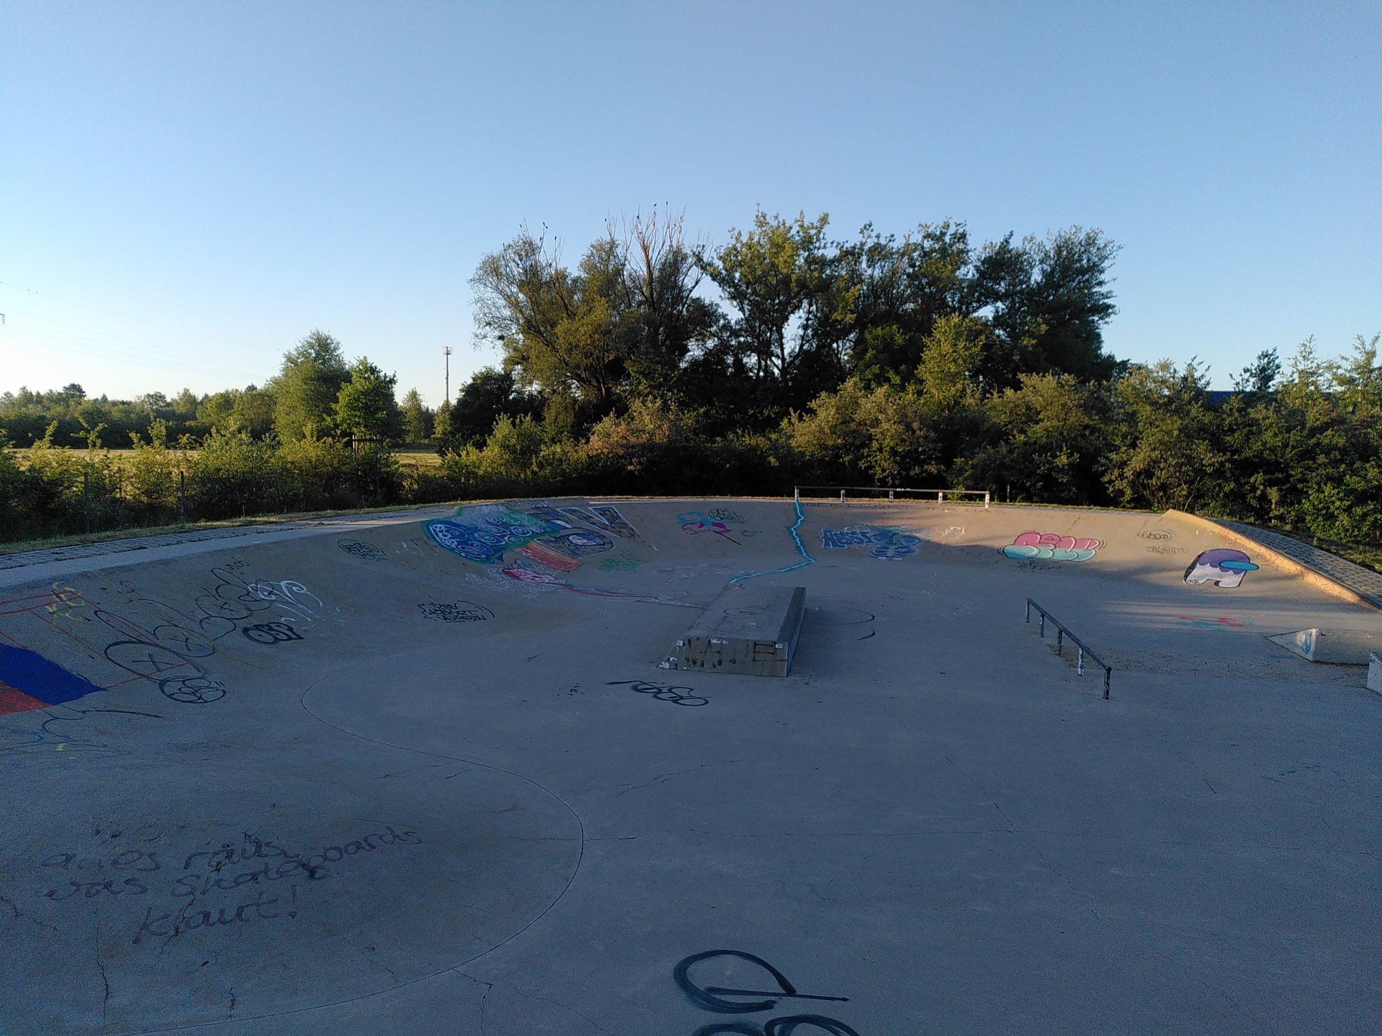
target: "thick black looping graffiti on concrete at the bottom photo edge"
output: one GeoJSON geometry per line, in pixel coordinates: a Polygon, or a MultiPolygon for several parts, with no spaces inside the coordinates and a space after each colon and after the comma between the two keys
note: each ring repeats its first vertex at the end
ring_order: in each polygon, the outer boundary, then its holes
{"type": "MultiPolygon", "coordinates": [[[[799,993],[786,975],[763,957],[744,950],[692,953],[672,968],[672,979],[692,1004],[712,1014],[757,1014],[777,1008],[784,1000],[849,1003],[847,996],[799,993]]],[[[710,1022],[697,1029],[694,1036],[716,1036],[717,1033],[791,1036],[803,1025],[832,1033],[832,1036],[860,1036],[855,1029],[837,1018],[821,1014],[788,1014],[768,1018],[761,1028],[746,1021],[710,1022]]]]}

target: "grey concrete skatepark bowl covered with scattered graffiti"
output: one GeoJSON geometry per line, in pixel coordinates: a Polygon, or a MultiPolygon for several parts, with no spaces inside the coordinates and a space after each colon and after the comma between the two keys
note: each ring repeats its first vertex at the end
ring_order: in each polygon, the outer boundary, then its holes
{"type": "Polygon", "coordinates": [[[1382,615],[1208,524],[151,543],[0,570],[3,1033],[1382,1032],[1382,698],[1267,640],[1382,615]]]}

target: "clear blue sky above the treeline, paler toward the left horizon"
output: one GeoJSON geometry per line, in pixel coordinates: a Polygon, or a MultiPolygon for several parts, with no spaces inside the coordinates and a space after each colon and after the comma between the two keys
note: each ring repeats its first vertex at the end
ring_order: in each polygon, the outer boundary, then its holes
{"type": "Polygon", "coordinates": [[[1118,356],[1382,330],[1382,6],[0,4],[0,391],[263,383],[314,327],[452,392],[527,221],[756,206],[1122,246],[1118,356]]]}

